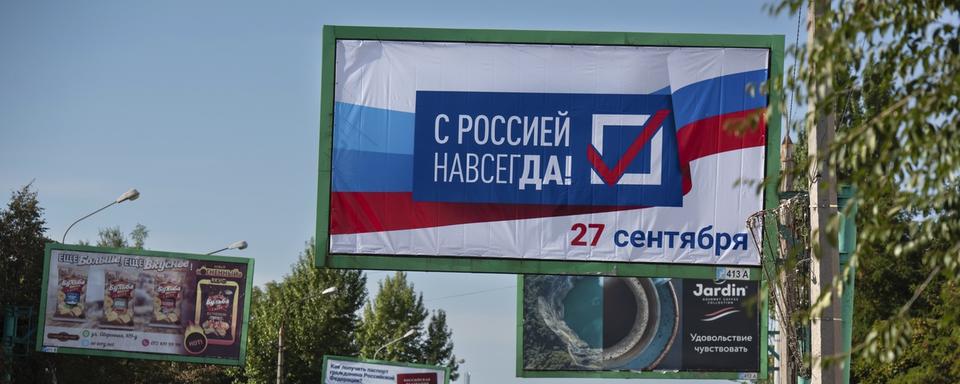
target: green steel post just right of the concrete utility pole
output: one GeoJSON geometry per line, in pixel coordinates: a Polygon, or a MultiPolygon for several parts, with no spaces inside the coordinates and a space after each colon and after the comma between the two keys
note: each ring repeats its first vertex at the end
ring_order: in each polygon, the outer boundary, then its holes
{"type": "MultiPolygon", "coordinates": [[[[850,257],[857,247],[857,203],[853,200],[856,195],[856,189],[845,185],[840,187],[840,193],[837,196],[837,205],[840,210],[840,241],[838,249],[840,250],[840,270],[846,271],[850,265],[850,257]]],[[[843,280],[843,295],[841,296],[841,317],[843,318],[843,353],[846,355],[843,359],[843,382],[850,382],[850,352],[853,343],[853,295],[856,283],[857,268],[856,265],[850,266],[850,273],[843,280]]]]}

